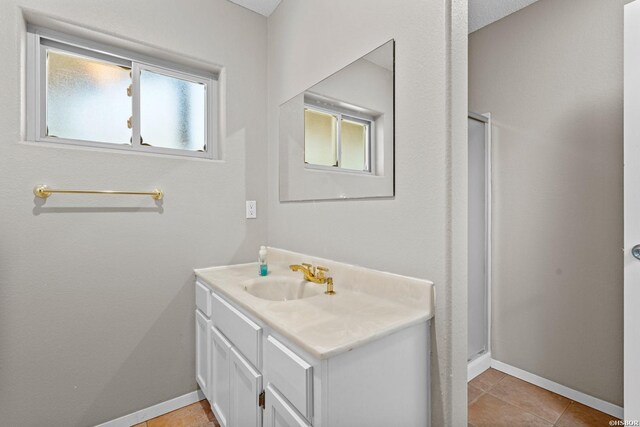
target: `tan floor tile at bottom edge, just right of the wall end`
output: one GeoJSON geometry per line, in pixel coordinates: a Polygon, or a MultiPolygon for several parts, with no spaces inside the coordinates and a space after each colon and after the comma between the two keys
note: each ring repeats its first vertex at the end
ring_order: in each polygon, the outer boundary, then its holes
{"type": "Polygon", "coordinates": [[[469,407],[469,423],[475,427],[553,426],[553,424],[490,394],[483,394],[469,407]]]}

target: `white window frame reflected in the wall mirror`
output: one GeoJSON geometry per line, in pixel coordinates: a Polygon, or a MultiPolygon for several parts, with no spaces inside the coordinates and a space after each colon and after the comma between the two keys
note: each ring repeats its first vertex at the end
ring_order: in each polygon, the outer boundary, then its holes
{"type": "MultiPolygon", "coordinates": [[[[375,175],[375,171],[373,170],[374,163],[374,150],[373,145],[375,143],[375,124],[376,120],[373,117],[366,116],[364,114],[350,111],[345,108],[329,106],[329,105],[319,105],[314,102],[309,102],[306,100],[304,102],[304,110],[307,109],[318,111],[320,113],[331,114],[336,117],[336,158],[338,164],[336,166],[326,166],[326,165],[316,165],[313,163],[304,162],[305,169],[316,169],[322,171],[332,171],[332,172],[345,172],[345,173],[357,173],[357,174],[366,174],[366,175],[375,175]],[[342,161],[342,120],[347,120],[355,123],[361,123],[367,125],[366,132],[366,142],[365,142],[365,169],[364,170],[356,170],[356,169],[346,169],[340,166],[342,161]]],[[[305,138],[306,139],[306,138],[305,138]]],[[[306,145],[306,141],[305,141],[306,145]]]]}

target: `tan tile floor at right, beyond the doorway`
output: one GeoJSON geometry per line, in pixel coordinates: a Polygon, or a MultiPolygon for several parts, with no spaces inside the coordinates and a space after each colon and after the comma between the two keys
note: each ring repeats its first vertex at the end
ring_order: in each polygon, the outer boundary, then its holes
{"type": "Polygon", "coordinates": [[[606,427],[617,418],[489,369],[467,387],[469,426],[606,427]]]}

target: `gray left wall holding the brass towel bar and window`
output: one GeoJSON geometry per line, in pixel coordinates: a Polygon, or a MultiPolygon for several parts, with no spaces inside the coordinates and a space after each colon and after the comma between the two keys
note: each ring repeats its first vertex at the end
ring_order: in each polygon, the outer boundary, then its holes
{"type": "Polygon", "coordinates": [[[264,17],[224,0],[0,3],[0,424],[94,425],[196,389],[192,269],[252,261],[266,242],[266,36],[264,17]],[[223,65],[223,161],[21,142],[19,6],[223,65]],[[166,198],[39,208],[39,183],[166,198]]]}

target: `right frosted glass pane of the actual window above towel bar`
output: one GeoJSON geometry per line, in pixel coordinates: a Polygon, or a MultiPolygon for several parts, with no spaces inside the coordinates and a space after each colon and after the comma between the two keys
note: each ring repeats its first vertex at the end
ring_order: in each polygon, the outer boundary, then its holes
{"type": "Polygon", "coordinates": [[[140,136],[145,145],[206,151],[205,85],[142,70],[140,136]]]}

